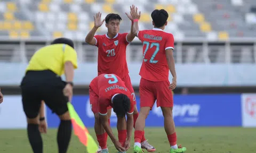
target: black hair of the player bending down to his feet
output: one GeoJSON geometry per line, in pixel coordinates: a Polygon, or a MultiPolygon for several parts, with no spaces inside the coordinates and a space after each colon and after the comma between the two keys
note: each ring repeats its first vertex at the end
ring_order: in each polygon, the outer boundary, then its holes
{"type": "Polygon", "coordinates": [[[124,94],[116,95],[113,100],[113,111],[117,117],[125,117],[125,114],[130,111],[131,102],[128,96],[124,94]]]}

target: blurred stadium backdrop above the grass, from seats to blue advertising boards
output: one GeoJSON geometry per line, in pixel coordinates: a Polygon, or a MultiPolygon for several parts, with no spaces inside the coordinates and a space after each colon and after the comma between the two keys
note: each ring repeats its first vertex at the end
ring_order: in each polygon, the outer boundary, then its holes
{"type": "MultiPolygon", "coordinates": [[[[169,13],[165,31],[173,33],[175,40],[178,78],[173,116],[177,126],[256,126],[255,0],[1,0],[0,87],[5,98],[0,105],[0,128],[26,127],[19,83],[36,50],[58,37],[75,41],[79,68],[73,104],[85,125],[92,127],[88,88],[97,76],[98,48],[84,39],[99,11],[103,18],[119,13],[123,19],[119,32],[129,32],[131,21],[125,12],[132,4],[142,12],[141,30],[153,28],[154,9],[169,13]]],[[[97,34],[106,32],[103,24],[97,34]]],[[[139,108],[142,44],[137,38],[126,54],[139,108]]],[[[46,114],[49,127],[57,127],[58,118],[49,109],[46,114]]],[[[115,126],[114,113],[112,118],[115,126]]],[[[163,126],[160,108],[153,107],[146,124],[163,126]]]]}

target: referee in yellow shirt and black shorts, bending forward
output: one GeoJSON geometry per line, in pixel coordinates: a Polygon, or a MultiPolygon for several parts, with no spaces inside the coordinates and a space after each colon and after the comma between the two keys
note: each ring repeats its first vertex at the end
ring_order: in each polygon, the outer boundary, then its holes
{"type": "MultiPolygon", "coordinates": [[[[71,118],[67,102],[73,96],[74,69],[77,69],[77,54],[74,43],[67,38],[53,40],[31,57],[20,87],[23,110],[27,116],[27,133],[35,153],[43,152],[43,141],[38,125],[45,120],[44,103],[59,116],[57,141],[59,153],[67,152],[71,137],[71,118]],[[66,75],[66,82],[61,75],[66,75]],[[43,109],[42,109],[43,108],[43,109]]],[[[45,130],[46,132],[46,130],[45,130]]]]}

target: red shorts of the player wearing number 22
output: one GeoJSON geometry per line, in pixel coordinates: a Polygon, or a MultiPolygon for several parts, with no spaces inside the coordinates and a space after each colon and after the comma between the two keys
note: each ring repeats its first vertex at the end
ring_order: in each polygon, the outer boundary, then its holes
{"type": "Polygon", "coordinates": [[[140,79],[140,107],[173,107],[173,95],[169,81],[153,82],[140,79]]]}

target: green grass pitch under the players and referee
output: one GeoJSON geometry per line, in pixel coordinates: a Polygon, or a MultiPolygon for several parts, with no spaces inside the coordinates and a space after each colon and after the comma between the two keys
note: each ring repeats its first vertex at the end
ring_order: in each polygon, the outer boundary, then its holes
{"type": "MultiPolygon", "coordinates": [[[[89,129],[95,139],[93,129],[89,129]]],[[[256,129],[243,128],[177,128],[178,145],[187,147],[191,153],[250,153],[256,152],[255,134],[256,129]]],[[[114,128],[115,135],[117,131],[114,128]]],[[[146,139],[156,148],[156,152],[169,152],[170,146],[163,128],[147,128],[146,139]]],[[[44,152],[58,152],[57,130],[48,129],[43,134],[44,152]]],[[[97,140],[97,139],[95,139],[97,140]]],[[[127,152],[132,152],[131,148],[127,152]]],[[[109,152],[117,152],[108,138],[109,152]]],[[[28,142],[26,130],[0,130],[0,152],[17,153],[33,152],[28,142]]],[[[86,152],[86,148],[73,135],[68,152],[86,152]]],[[[145,151],[147,152],[147,151],[145,151]]]]}

